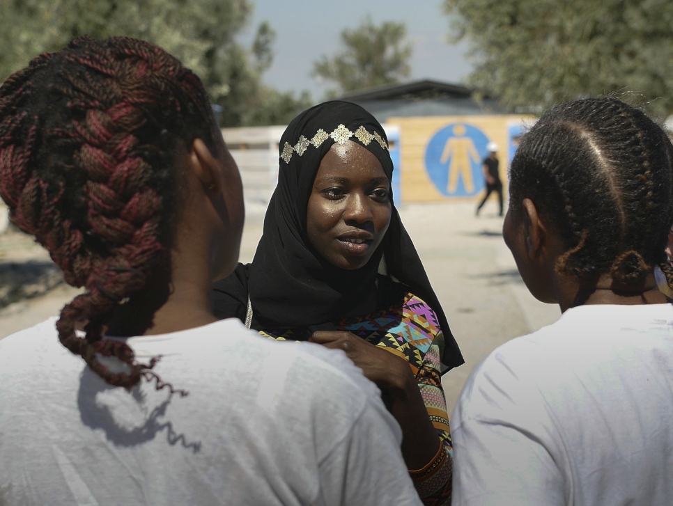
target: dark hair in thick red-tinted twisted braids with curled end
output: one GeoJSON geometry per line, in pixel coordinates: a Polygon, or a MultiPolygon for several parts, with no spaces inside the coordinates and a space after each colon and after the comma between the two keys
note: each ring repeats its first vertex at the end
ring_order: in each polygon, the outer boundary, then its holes
{"type": "MultiPolygon", "coordinates": [[[[0,88],[0,196],[65,280],[86,292],[56,323],[61,343],[108,384],[155,379],[158,358],[137,363],[102,338],[114,308],[169,267],[180,206],[180,145],[213,145],[214,118],[196,75],[132,38],[79,38],[38,56],[0,88]],[[86,321],[86,337],[75,324],[86,321]],[[128,372],[109,370],[115,356],[128,372]]],[[[172,390],[172,388],[171,388],[172,390]]]]}

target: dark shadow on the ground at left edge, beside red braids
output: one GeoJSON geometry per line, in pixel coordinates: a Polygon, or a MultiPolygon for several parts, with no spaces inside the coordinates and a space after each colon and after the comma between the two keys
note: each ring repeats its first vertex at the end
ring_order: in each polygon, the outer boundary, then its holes
{"type": "Polygon", "coordinates": [[[63,274],[53,262],[43,260],[0,261],[0,308],[21,299],[45,294],[61,283],[63,283],[63,274]]]}

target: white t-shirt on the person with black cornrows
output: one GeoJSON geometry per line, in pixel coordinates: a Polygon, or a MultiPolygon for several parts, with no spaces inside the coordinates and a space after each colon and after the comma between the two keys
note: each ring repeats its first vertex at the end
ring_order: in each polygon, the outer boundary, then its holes
{"type": "Polygon", "coordinates": [[[673,504],[673,307],[580,306],[507,342],[451,417],[453,504],[673,504]]]}

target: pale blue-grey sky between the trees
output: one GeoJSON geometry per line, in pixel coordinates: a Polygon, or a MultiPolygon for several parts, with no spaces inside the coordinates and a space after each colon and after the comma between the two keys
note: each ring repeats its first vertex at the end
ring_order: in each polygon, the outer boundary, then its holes
{"type": "Polygon", "coordinates": [[[277,33],[274,62],[264,80],[279,90],[307,89],[315,99],[323,97],[329,84],[311,78],[312,64],[331,56],[340,47],[340,34],[353,29],[366,15],[375,24],[403,22],[414,43],[410,79],[437,79],[459,83],[470,73],[465,61],[467,46],[449,45],[449,18],[440,0],[254,0],[252,23],[241,40],[252,42],[256,26],[270,22],[277,33]]]}

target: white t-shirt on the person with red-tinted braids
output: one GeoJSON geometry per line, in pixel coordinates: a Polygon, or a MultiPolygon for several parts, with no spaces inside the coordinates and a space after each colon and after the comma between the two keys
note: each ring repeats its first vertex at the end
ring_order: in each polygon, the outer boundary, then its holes
{"type": "Polygon", "coordinates": [[[343,352],[237,319],[128,339],[189,391],[171,397],[105,384],[55,320],[0,340],[1,505],[420,505],[399,425],[343,352]]]}

